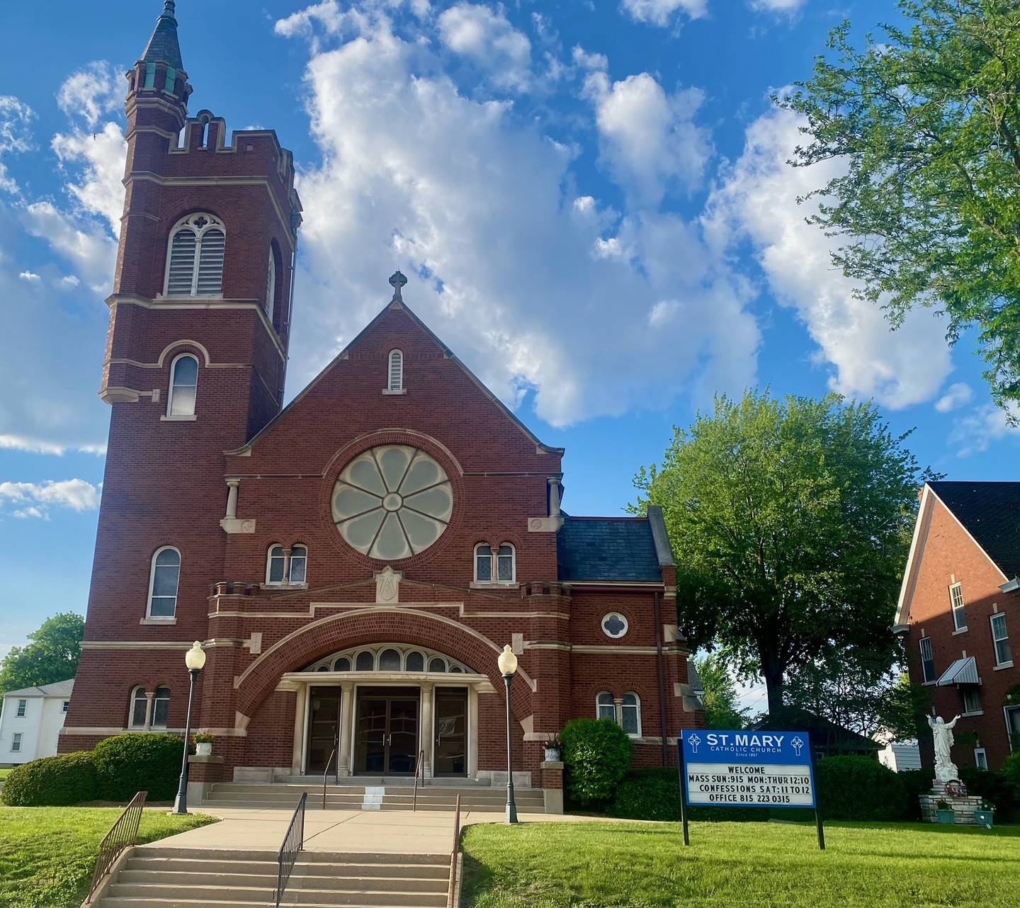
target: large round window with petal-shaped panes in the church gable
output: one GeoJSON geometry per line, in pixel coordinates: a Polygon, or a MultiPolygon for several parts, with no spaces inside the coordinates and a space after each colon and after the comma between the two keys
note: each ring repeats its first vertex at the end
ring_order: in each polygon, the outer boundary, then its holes
{"type": "Polygon", "coordinates": [[[424,451],[384,445],[354,458],[333,490],[340,535],[381,561],[423,552],[447,528],[453,491],[446,471],[424,451]]]}

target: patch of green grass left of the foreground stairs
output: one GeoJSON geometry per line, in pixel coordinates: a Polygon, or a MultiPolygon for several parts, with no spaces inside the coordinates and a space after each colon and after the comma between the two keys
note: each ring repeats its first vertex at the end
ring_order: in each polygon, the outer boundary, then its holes
{"type": "MultiPolygon", "coordinates": [[[[119,808],[0,807],[0,905],[76,908],[92,881],[99,843],[119,808]]],[[[204,826],[203,814],[167,816],[146,810],[139,842],[154,842],[204,826]]]]}

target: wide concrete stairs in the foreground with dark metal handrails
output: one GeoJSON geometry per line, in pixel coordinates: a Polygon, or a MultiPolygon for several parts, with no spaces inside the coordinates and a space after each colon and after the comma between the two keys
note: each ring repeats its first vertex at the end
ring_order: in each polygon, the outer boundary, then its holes
{"type": "MultiPolygon", "coordinates": [[[[253,908],[274,905],[276,854],[140,847],[97,908],[253,908]]],[[[282,904],[301,908],[445,908],[450,856],[298,855],[282,904]]],[[[91,908],[91,906],[90,906],[91,908]]]]}

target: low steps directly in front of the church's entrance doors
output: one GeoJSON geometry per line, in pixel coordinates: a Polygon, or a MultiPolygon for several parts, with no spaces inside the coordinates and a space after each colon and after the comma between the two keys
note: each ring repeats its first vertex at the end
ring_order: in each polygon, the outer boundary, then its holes
{"type": "MultiPolygon", "coordinates": [[[[405,785],[354,787],[326,786],[326,810],[410,810],[414,804],[413,790],[405,785]]],[[[322,786],[303,783],[239,783],[215,784],[202,802],[211,808],[255,807],[292,810],[302,792],[308,793],[308,809],[322,809],[322,786]]],[[[455,809],[457,796],[461,810],[501,813],[506,806],[506,791],[489,787],[440,788],[428,785],[418,789],[418,810],[455,809]]],[[[541,789],[517,789],[514,799],[521,813],[545,813],[541,789]]]]}

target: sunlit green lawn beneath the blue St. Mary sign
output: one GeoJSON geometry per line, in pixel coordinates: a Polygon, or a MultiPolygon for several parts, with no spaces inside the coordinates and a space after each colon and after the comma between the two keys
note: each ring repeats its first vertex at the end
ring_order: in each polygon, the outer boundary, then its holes
{"type": "Polygon", "coordinates": [[[699,822],[477,825],[465,908],[827,908],[1020,904],[1020,827],[699,822]]]}

